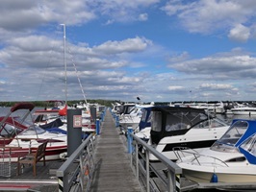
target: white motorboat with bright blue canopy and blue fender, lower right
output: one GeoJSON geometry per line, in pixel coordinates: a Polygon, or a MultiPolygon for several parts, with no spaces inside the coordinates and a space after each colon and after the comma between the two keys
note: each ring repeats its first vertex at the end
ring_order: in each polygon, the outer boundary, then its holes
{"type": "MultiPolygon", "coordinates": [[[[255,182],[256,121],[234,120],[211,148],[181,157],[183,175],[196,182],[255,182]],[[215,180],[212,180],[215,176],[215,180]]],[[[179,156],[183,153],[178,152],[179,156]]]]}

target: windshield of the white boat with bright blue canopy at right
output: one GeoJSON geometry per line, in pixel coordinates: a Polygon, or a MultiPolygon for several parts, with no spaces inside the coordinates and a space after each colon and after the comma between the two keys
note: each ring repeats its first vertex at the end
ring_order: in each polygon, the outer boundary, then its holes
{"type": "Polygon", "coordinates": [[[242,137],[243,133],[246,132],[247,128],[248,123],[246,121],[235,122],[229,130],[214,143],[211,149],[225,152],[237,151],[235,144],[242,137]]]}

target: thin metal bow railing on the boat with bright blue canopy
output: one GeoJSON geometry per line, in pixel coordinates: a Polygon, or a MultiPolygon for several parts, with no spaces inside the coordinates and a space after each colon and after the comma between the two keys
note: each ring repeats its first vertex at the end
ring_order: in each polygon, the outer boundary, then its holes
{"type": "Polygon", "coordinates": [[[214,164],[217,164],[218,162],[220,162],[220,164],[223,164],[224,166],[228,167],[228,164],[226,162],[224,162],[223,160],[219,159],[218,157],[205,156],[205,155],[199,154],[198,152],[196,152],[188,147],[174,147],[173,152],[174,152],[175,156],[177,156],[177,159],[180,161],[183,161],[183,157],[185,157],[185,156],[193,156],[194,158],[192,159],[192,162],[196,161],[198,163],[198,165],[202,165],[203,163],[200,162],[199,157],[204,156],[207,158],[214,159],[213,161],[209,161],[209,162],[214,162],[214,164]]]}

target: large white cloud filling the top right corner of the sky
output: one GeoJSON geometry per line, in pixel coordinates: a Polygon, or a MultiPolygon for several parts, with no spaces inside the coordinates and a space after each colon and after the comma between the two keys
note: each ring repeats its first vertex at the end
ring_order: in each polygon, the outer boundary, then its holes
{"type": "MultiPolygon", "coordinates": [[[[169,16],[177,16],[182,26],[192,33],[213,34],[247,23],[256,16],[253,0],[169,0],[162,8],[169,16]]],[[[246,36],[243,36],[243,39],[246,36]]]]}

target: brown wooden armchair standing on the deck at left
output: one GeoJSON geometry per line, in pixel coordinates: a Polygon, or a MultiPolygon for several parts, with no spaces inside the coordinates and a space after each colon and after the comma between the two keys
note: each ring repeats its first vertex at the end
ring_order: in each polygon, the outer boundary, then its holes
{"type": "Polygon", "coordinates": [[[43,142],[38,146],[36,153],[30,153],[27,156],[19,156],[17,160],[17,175],[19,175],[20,166],[24,164],[33,165],[33,175],[37,175],[37,163],[40,159],[43,159],[43,166],[45,166],[45,149],[47,146],[47,141],[43,142]]]}

